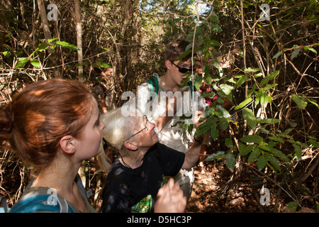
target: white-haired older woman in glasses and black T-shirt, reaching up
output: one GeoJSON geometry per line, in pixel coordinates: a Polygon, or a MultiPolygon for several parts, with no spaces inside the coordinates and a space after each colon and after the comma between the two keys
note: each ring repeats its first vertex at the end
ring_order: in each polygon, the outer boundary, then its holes
{"type": "MultiPolygon", "coordinates": [[[[202,136],[196,137],[188,152],[180,153],[158,143],[155,124],[146,116],[125,117],[121,111],[115,109],[101,116],[106,125],[102,136],[119,150],[119,155],[106,178],[100,212],[153,212],[157,193],[166,183],[164,176],[177,175],[181,168],[196,165],[202,136]]],[[[169,185],[174,184],[171,181],[169,185]]],[[[185,209],[186,199],[176,188],[169,199],[170,210],[165,212],[185,209]]]]}

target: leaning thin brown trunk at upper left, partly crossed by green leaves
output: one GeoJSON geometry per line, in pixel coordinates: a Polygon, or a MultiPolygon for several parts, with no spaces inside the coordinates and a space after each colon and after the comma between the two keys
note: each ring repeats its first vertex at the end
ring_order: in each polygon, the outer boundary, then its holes
{"type": "MultiPolygon", "coordinates": [[[[45,35],[45,40],[49,40],[52,38],[51,33],[50,33],[50,28],[49,28],[49,23],[47,22],[47,12],[45,11],[45,5],[43,4],[43,0],[37,0],[38,1],[38,7],[40,11],[40,18],[43,24],[43,33],[45,35]]],[[[54,77],[60,78],[60,71],[57,70],[55,67],[57,65],[57,56],[55,55],[55,49],[47,48],[50,53],[50,62],[52,63],[53,66],[53,74],[54,77]]]]}

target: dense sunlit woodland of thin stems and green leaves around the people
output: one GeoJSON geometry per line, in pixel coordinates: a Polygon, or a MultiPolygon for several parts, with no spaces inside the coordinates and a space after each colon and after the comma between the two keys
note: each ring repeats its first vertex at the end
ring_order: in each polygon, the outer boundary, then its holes
{"type": "MultiPolygon", "coordinates": [[[[121,106],[123,92],[165,71],[165,44],[186,38],[200,58],[194,85],[204,79],[232,103],[223,109],[214,101],[198,129],[211,133],[212,145],[203,170],[195,168],[186,211],[318,212],[318,1],[1,0],[0,7],[1,105],[26,84],[60,77],[91,86],[113,67],[112,105],[121,106]],[[260,20],[262,4],[268,21],[260,20]]],[[[0,150],[0,196],[9,206],[31,171],[0,150]]],[[[105,174],[94,158],[82,173],[99,209],[105,174]]]]}

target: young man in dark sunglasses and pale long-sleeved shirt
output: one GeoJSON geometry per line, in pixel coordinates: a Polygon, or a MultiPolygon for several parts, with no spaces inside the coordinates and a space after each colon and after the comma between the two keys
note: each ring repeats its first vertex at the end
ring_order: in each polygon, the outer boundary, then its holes
{"type": "MultiPolygon", "coordinates": [[[[180,116],[189,114],[191,107],[198,111],[204,111],[206,107],[205,100],[199,92],[191,91],[191,87],[187,84],[185,87],[180,87],[183,80],[191,72],[195,72],[191,64],[191,53],[179,60],[179,56],[189,45],[190,43],[183,39],[173,40],[167,44],[164,53],[164,64],[167,70],[162,76],[155,75],[158,82],[157,95],[154,94],[155,89],[152,92],[151,85],[144,82],[138,87],[136,104],[139,111],[146,114],[147,118],[155,123],[159,142],[181,153],[186,153],[189,149],[189,144],[193,142],[194,131],[189,133],[177,124],[181,121],[180,116]],[[176,96],[168,97],[168,99],[163,97],[170,92],[176,96]],[[150,96],[155,97],[154,100],[152,99],[152,106],[149,106],[150,96]],[[193,105],[192,99],[197,101],[196,106],[193,105]]],[[[180,170],[174,179],[179,182],[184,195],[189,199],[194,181],[194,170],[180,170]]]]}

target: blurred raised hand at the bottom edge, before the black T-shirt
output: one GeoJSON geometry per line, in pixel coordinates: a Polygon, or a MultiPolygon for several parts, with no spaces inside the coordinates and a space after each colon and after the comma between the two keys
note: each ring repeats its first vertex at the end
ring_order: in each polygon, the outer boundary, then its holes
{"type": "Polygon", "coordinates": [[[155,203],[155,213],[181,213],[186,208],[186,197],[174,179],[159,189],[155,203]]]}

